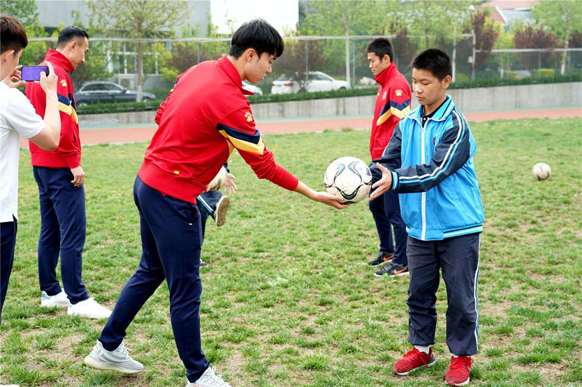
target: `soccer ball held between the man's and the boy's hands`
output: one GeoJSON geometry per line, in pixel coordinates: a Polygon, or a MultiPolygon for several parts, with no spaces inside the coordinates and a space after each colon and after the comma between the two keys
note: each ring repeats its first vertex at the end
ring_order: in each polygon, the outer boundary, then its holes
{"type": "Polygon", "coordinates": [[[340,157],[325,170],[324,184],[327,192],[343,197],[342,203],[357,203],[368,197],[372,173],[357,157],[340,157]]]}

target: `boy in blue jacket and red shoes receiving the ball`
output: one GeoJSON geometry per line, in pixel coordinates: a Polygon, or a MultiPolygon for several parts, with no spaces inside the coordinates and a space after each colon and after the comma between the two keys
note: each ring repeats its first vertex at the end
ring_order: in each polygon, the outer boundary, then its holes
{"type": "Polygon", "coordinates": [[[404,117],[377,160],[382,180],[370,200],[392,189],[409,238],[408,341],[414,346],[393,371],[407,375],[436,361],[431,345],[437,326],[436,292],[446,285],[446,342],[453,356],[445,383],[469,384],[471,355],[477,353],[477,278],[484,220],[473,164],[476,145],[463,114],[446,94],[452,65],[439,49],[411,63],[418,106],[404,117]]]}

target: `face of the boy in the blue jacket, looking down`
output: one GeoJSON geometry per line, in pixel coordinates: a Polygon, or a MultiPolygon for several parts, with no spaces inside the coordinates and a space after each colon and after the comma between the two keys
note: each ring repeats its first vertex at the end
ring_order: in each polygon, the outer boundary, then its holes
{"type": "Polygon", "coordinates": [[[425,106],[424,114],[432,113],[446,98],[450,76],[439,81],[431,71],[412,69],[412,91],[419,105],[425,106]]]}

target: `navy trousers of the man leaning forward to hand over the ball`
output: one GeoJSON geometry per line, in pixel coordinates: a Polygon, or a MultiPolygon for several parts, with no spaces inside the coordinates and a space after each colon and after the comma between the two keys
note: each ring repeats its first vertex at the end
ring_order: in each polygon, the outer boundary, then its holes
{"type": "Polygon", "coordinates": [[[200,212],[193,203],[149,187],[139,176],[133,198],[140,213],[140,264],[123,287],[99,341],[106,350],[115,350],[137,312],[166,279],[174,340],[186,377],[194,382],[210,365],[200,340],[200,212]]]}

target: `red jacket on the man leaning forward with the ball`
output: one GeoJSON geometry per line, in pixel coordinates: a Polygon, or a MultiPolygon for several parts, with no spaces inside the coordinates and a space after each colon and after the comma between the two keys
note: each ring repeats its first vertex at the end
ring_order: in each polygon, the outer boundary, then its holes
{"type": "Polygon", "coordinates": [[[158,130],[138,175],[162,193],[196,203],[236,148],[259,178],[293,191],[298,180],[278,166],[255,127],[238,71],[223,56],[184,71],[155,116],[158,130]]]}

